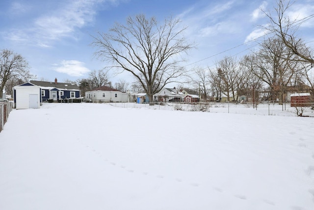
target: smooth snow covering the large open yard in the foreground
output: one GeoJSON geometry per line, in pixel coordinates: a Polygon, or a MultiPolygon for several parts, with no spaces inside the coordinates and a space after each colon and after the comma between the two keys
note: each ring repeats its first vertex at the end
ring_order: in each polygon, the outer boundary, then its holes
{"type": "Polygon", "coordinates": [[[44,103],[0,133],[0,210],[313,210],[313,118],[44,103]]]}

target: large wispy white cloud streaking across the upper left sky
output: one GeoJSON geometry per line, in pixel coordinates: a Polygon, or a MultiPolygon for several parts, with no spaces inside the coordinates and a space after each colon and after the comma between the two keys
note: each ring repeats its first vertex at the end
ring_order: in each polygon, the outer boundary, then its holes
{"type": "MultiPolygon", "coordinates": [[[[6,38],[19,41],[26,39],[28,44],[40,47],[50,47],[53,40],[59,40],[63,37],[77,37],[75,32],[94,20],[97,6],[104,0],[68,0],[57,4],[58,7],[52,12],[48,11],[46,15],[34,19],[31,25],[8,30],[6,38]],[[49,13],[49,14],[48,14],[49,13]]],[[[23,8],[20,3],[13,6],[15,11],[23,8]]]]}

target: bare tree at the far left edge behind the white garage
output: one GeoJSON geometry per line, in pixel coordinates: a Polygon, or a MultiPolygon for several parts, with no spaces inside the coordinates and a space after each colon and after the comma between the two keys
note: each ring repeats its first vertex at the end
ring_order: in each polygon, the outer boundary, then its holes
{"type": "Polygon", "coordinates": [[[29,73],[28,62],[21,55],[11,50],[0,51],[0,95],[8,80],[29,80],[34,76],[29,73]]]}

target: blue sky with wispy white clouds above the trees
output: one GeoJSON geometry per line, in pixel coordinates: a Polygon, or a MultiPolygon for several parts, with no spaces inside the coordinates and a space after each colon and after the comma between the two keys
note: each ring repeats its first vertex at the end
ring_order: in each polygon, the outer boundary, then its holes
{"type": "MultiPolygon", "coordinates": [[[[197,44],[189,52],[187,68],[213,67],[225,56],[240,57],[256,47],[256,41],[248,41],[261,36],[259,25],[268,23],[260,8],[272,11],[275,3],[275,0],[1,0],[0,49],[11,49],[24,56],[37,79],[54,81],[56,77],[62,82],[87,78],[90,71],[109,65],[94,58],[92,36],[99,31],[107,32],[115,22],[124,24],[130,15],[144,13],[147,17],[156,16],[159,21],[179,17],[188,27],[184,35],[197,44]]],[[[313,11],[314,0],[296,0],[289,15],[301,19],[313,11]]],[[[299,29],[309,46],[314,46],[313,32],[314,18],[299,29]]],[[[130,74],[110,76],[113,83],[119,79],[133,81],[130,74]]]]}

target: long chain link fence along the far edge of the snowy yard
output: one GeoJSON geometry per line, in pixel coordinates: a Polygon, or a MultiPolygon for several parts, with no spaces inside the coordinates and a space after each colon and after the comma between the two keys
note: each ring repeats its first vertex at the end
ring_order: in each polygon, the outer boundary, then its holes
{"type": "Polygon", "coordinates": [[[200,103],[170,103],[156,102],[154,106],[149,103],[109,103],[111,106],[122,108],[146,108],[162,110],[201,111],[212,113],[272,115],[272,116],[300,116],[314,117],[314,103],[302,103],[294,106],[289,101],[267,101],[259,103],[236,102],[200,102],[200,103]]]}

